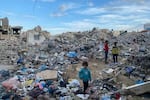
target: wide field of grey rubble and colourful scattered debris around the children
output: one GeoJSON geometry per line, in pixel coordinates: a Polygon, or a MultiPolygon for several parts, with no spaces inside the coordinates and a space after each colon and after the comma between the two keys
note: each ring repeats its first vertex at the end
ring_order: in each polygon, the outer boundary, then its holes
{"type": "MultiPolygon", "coordinates": [[[[43,32],[40,26],[35,30],[43,32]]],[[[0,71],[2,100],[149,99],[144,94],[150,93],[150,34],[132,32],[116,37],[107,29],[93,28],[51,36],[32,45],[24,40],[0,41],[0,64],[14,66],[0,71]],[[101,49],[105,40],[110,46],[108,64],[103,63],[101,49]],[[120,55],[114,64],[111,48],[116,41],[120,55]],[[85,60],[93,78],[83,95],[77,72],[85,60]]]]}

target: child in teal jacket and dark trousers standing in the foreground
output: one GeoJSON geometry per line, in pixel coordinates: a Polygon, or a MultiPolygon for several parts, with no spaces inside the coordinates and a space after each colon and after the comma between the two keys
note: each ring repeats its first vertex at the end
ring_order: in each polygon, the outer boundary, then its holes
{"type": "Polygon", "coordinates": [[[79,78],[83,81],[84,86],[84,94],[86,93],[86,90],[89,86],[89,81],[91,81],[91,72],[88,69],[88,62],[83,61],[82,63],[83,68],[79,71],[79,78]]]}

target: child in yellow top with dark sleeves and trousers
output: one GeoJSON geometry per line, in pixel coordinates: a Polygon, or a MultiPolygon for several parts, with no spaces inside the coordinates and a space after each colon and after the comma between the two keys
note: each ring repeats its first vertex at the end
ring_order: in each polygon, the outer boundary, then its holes
{"type": "Polygon", "coordinates": [[[114,42],[114,46],[112,47],[112,56],[114,63],[118,62],[118,54],[119,54],[119,48],[117,46],[117,42],[114,42]]]}

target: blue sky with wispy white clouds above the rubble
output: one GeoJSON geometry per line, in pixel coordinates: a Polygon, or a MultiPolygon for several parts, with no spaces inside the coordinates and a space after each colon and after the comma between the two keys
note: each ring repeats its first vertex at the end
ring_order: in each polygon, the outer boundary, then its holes
{"type": "Polygon", "coordinates": [[[40,25],[51,34],[66,31],[140,29],[150,23],[150,0],[0,0],[0,18],[23,30],[40,25]]]}

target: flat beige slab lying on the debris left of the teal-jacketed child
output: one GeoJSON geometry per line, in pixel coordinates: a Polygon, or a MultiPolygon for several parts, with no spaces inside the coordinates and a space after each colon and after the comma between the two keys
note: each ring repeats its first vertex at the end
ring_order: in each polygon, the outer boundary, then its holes
{"type": "Polygon", "coordinates": [[[57,71],[55,70],[45,70],[36,74],[37,78],[46,79],[57,79],[57,71]]]}

